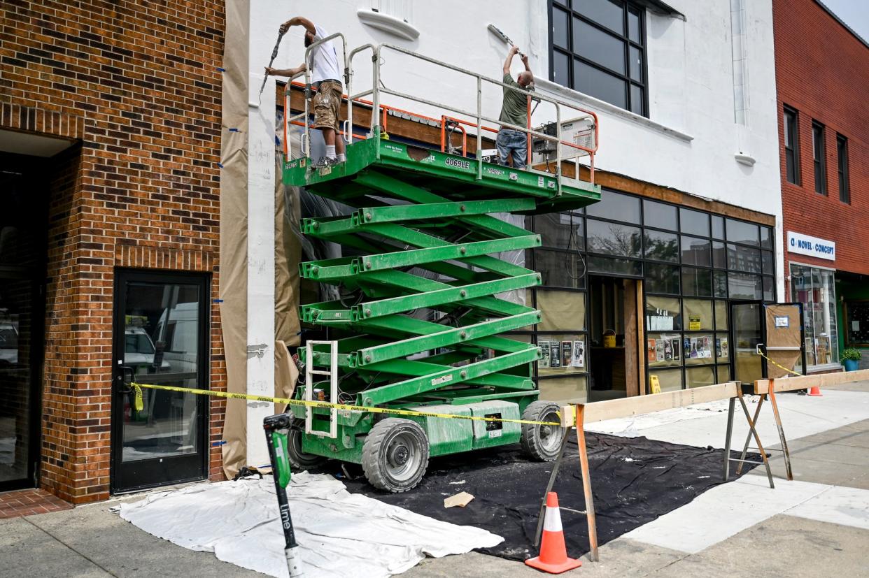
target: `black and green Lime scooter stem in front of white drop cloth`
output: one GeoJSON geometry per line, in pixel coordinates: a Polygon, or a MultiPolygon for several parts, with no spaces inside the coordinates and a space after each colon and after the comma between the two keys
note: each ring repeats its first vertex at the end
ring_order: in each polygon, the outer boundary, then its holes
{"type": "Polygon", "coordinates": [[[302,578],[302,556],[299,555],[299,545],[295,542],[293,519],[289,516],[287,500],[287,484],[290,470],[287,456],[287,441],[289,434],[289,415],[280,413],[262,420],[262,428],[266,431],[266,443],[269,445],[269,458],[272,464],[272,476],[275,478],[275,494],[277,494],[278,509],[281,512],[281,527],[286,542],[283,553],[287,557],[287,569],[290,578],[302,578]]]}

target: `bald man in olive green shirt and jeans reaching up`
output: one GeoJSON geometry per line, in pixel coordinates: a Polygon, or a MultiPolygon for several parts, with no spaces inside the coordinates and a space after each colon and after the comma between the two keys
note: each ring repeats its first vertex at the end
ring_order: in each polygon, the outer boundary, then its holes
{"type": "MultiPolygon", "coordinates": [[[[514,81],[513,76],[510,75],[510,63],[513,62],[513,56],[517,52],[519,49],[512,46],[507,53],[507,60],[504,61],[503,82],[518,89],[534,90],[534,75],[528,68],[527,55],[520,56],[525,69],[519,73],[519,82],[514,81]]],[[[519,127],[526,127],[528,122],[527,95],[518,90],[504,87],[504,101],[501,104],[501,116],[498,120],[519,127]]],[[[528,136],[526,133],[513,128],[501,127],[501,130],[498,131],[498,138],[495,139],[495,145],[498,147],[498,158],[502,165],[507,165],[507,155],[512,152],[514,168],[525,168],[528,159],[528,136]]]]}

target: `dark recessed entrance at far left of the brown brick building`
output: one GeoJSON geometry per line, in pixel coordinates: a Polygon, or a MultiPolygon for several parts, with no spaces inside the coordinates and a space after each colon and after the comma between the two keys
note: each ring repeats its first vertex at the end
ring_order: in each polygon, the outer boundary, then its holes
{"type": "Polygon", "coordinates": [[[0,491],[36,485],[48,187],[38,161],[0,154],[0,491]]]}

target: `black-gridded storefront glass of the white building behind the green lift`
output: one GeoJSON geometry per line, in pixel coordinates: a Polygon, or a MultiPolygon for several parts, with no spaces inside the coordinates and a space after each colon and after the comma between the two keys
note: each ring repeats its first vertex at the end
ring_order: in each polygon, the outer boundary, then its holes
{"type": "MultiPolygon", "coordinates": [[[[544,361],[535,377],[545,395],[553,388],[570,398],[594,393],[600,388],[595,364],[614,363],[601,357],[606,348],[598,343],[593,319],[600,308],[594,287],[600,282],[593,279],[641,281],[634,321],[639,333],[613,328],[616,348],[630,347],[642,336],[637,365],[646,372],[647,390],[652,377],[661,391],[730,380],[729,303],[775,299],[771,227],[609,190],[586,211],[536,215],[527,219],[526,227],[540,233],[543,241],[530,253],[533,268],[542,273],[543,286],[532,293],[543,312],[534,339],[543,348],[544,361]],[[581,360],[572,357],[565,366],[568,343],[578,343],[571,352],[585,355],[581,360]]],[[[630,285],[624,287],[630,291],[630,285]]],[[[610,300],[617,308],[630,305],[621,293],[610,300]]],[[[607,304],[606,293],[602,303],[607,304]]],[[[833,316],[829,311],[827,318],[833,316]]],[[[627,324],[630,316],[622,317],[627,324]]],[[[612,357],[612,351],[605,352],[612,357]]]]}

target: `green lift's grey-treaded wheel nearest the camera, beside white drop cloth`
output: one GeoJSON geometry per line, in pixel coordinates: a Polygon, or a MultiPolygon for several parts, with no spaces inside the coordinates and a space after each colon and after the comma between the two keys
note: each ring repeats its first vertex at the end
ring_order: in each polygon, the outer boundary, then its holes
{"type": "Polygon", "coordinates": [[[428,468],[428,437],[409,419],[377,422],[362,443],[362,470],[368,483],[394,494],[414,489],[428,468]]]}

